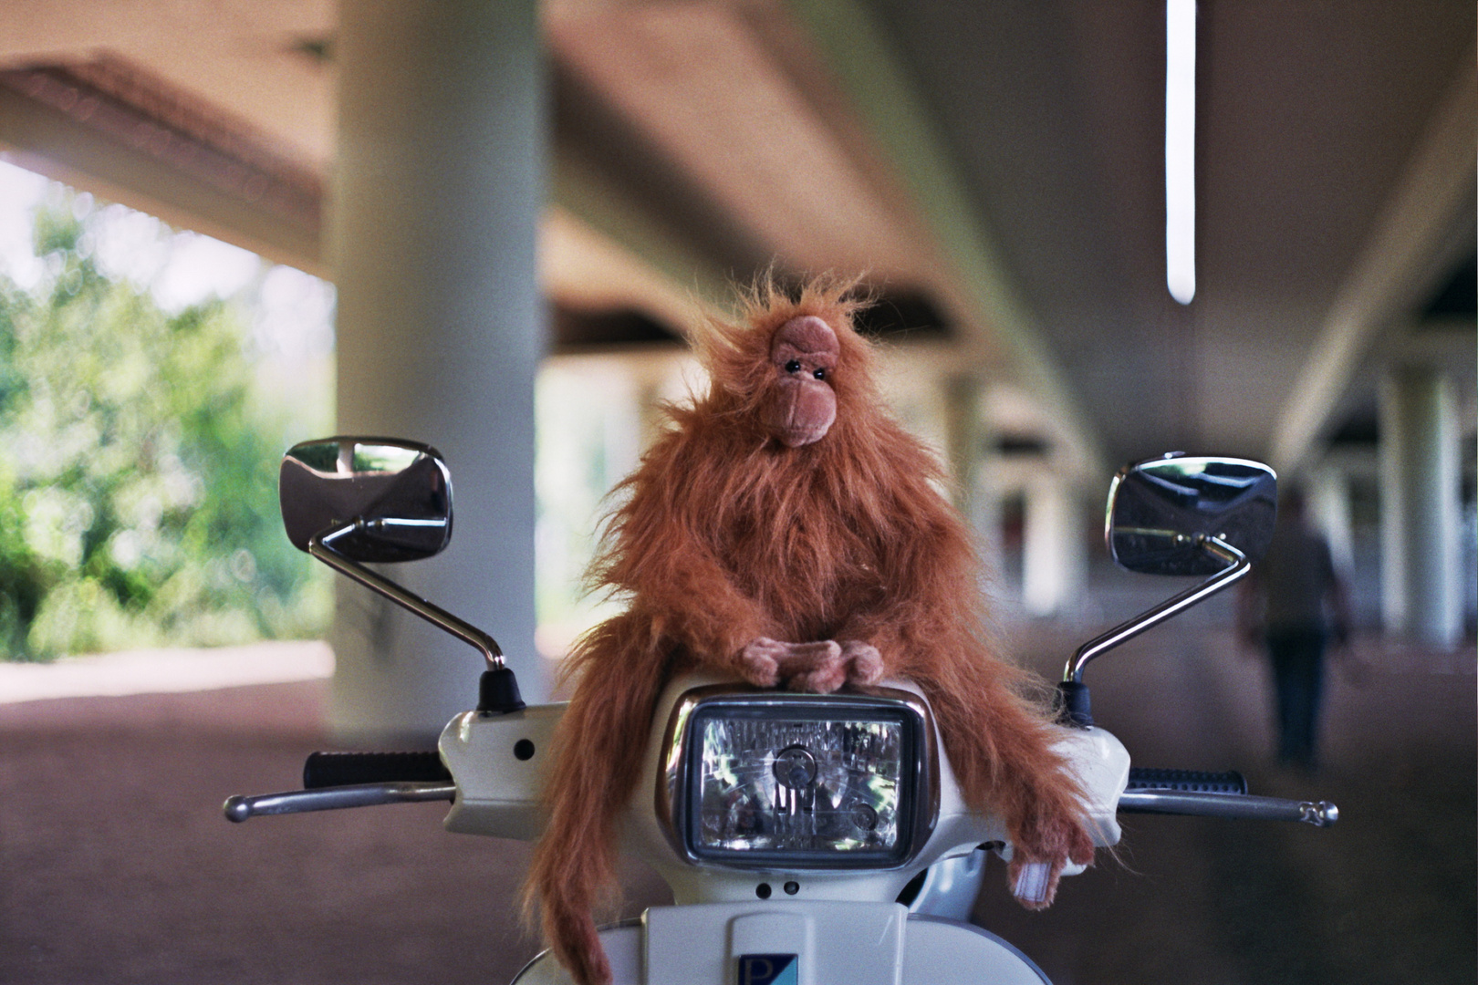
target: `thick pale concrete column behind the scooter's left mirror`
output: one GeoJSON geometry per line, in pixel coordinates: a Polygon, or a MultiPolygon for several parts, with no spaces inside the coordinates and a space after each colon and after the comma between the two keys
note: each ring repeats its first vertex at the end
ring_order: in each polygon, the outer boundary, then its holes
{"type": "MultiPolygon", "coordinates": [[[[525,700],[534,650],[535,276],[542,78],[534,0],[341,0],[338,430],[435,445],[455,490],[446,552],[387,573],[491,632],[525,700]]],[[[331,725],[430,738],[476,701],[466,644],[340,582],[331,725]]]]}

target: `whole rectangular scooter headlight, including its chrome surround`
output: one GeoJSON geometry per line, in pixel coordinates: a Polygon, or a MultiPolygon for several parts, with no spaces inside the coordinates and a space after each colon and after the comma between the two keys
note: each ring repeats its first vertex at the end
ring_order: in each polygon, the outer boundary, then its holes
{"type": "Polygon", "coordinates": [[[907,691],[699,688],[672,715],[658,814],[693,862],[893,868],[934,824],[933,737],[907,691]]]}

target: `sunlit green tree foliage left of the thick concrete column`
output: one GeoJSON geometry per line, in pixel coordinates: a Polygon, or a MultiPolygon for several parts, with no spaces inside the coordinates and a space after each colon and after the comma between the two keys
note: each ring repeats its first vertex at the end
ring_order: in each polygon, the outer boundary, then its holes
{"type": "Polygon", "coordinates": [[[281,532],[239,316],[103,276],[78,211],[38,213],[38,289],[0,276],[0,651],[315,635],[328,592],[281,532]]]}

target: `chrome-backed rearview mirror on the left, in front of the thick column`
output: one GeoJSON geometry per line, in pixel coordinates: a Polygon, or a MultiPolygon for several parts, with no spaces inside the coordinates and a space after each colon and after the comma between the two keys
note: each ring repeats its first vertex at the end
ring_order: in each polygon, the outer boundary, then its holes
{"type": "Polygon", "coordinates": [[[303,442],[282,456],[282,523],[300,551],[355,521],[334,551],[361,563],[415,561],[452,536],[452,481],[429,445],[377,437],[303,442]]]}

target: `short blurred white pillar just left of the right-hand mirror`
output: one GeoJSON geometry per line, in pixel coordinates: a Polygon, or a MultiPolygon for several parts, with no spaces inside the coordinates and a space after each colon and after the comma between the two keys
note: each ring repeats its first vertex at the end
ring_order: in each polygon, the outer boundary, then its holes
{"type": "Polygon", "coordinates": [[[1075,605],[1088,580],[1088,551],[1075,490],[1043,474],[1026,489],[1021,546],[1021,604],[1033,616],[1075,605]]]}

